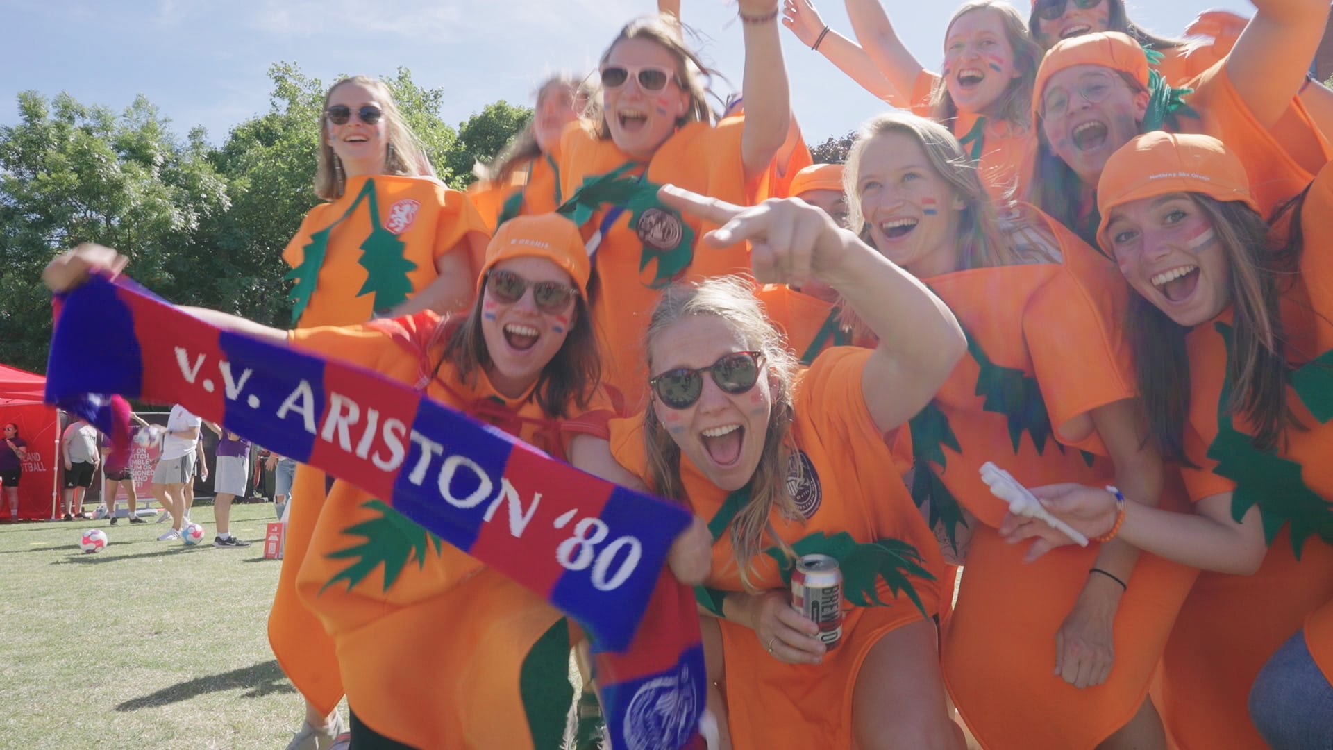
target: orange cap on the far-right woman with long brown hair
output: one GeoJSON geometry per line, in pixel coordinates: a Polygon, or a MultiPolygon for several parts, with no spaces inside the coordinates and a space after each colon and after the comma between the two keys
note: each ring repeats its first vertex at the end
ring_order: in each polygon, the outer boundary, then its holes
{"type": "Polygon", "coordinates": [[[1198,192],[1221,202],[1238,200],[1258,212],[1249,191],[1249,176],[1238,156],[1216,137],[1154,131],[1134,137],[1110,155],[1097,183],[1101,226],[1097,242],[1110,222],[1110,211],[1132,200],[1173,192],[1198,192]]]}

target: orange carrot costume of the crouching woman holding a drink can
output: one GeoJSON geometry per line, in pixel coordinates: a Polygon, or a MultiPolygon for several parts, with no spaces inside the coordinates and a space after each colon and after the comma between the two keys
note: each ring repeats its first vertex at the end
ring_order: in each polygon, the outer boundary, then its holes
{"type": "MultiPolygon", "coordinates": [[[[922,619],[908,595],[897,594],[880,579],[910,582],[924,610],[934,614],[937,585],[904,571],[920,565],[938,577],[942,560],[938,544],[912,507],[898,467],[884,444],[882,435],[865,408],[861,372],[869,350],[834,348],[820,356],[800,375],[794,388],[792,439],[798,448],[794,460],[804,464],[794,491],[804,519],[782,518],[774,511],[770,522],[777,534],[797,554],[825,552],[842,558],[844,598],[858,593],[876,594],[892,606],[850,606],[842,626],[842,639],[824,657],[822,665],[786,665],[773,658],[754,631],[720,619],[726,673],[726,703],[733,747],[850,747],[852,689],[865,655],[885,633],[922,619]],[[873,542],[885,540],[898,555],[873,542]],[[846,555],[857,548],[874,556],[872,565],[852,562],[846,555]],[[872,550],[882,550],[870,554],[872,550]],[[882,560],[882,562],[881,562],[882,560]]],[[[612,420],[611,442],[616,459],[631,471],[647,475],[643,419],[612,420]]],[[[681,459],[681,478],[690,507],[705,519],[730,518],[748,498],[745,490],[730,496],[712,484],[688,459],[681,459]]],[[[789,479],[793,482],[794,479],[789,479]]],[[[724,523],[718,523],[724,526],[724,523]]],[[[714,590],[742,591],[730,538],[714,528],[713,573],[706,585],[714,590]]],[[[790,569],[788,569],[789,573],[790,569]]],[[[760,555],[750,573],[758,590],[785,587],[774,558],[760,555]]]]}

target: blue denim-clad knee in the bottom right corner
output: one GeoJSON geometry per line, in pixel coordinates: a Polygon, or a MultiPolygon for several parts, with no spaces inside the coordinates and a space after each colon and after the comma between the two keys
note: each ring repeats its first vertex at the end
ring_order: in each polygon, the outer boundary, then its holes
{"type": "Polygon", "coordinates": [[[1304,633],[1260,670],[1249,710],[1273,750],[1333,750],[1333,685],[1314,663],[1304,633]]]}

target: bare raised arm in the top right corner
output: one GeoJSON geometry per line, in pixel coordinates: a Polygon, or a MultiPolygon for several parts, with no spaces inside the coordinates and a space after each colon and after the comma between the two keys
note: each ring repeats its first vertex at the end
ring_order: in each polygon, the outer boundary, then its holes
{"type": "Polygon", "coordinates": [[[1226,56],[1226,75],[1262,125],[1301,89],[1328,23],[1328,0],[1252,0],[1254,17],[1226,56]]]}

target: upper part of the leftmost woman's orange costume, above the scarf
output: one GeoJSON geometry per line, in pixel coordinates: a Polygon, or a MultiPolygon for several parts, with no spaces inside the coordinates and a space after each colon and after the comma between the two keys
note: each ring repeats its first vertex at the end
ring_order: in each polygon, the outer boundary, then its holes
{"type": "Polygon", "coordinates": [[[283,251],[296,279],[293,327],[369,320],[436,279],[436,259],[468,240],[480,268],[489,232],[468,196],[428,177],[351,177],[311,210],[283,251]],[[311,264],[311,268],[307,268],[311,264]]]}

